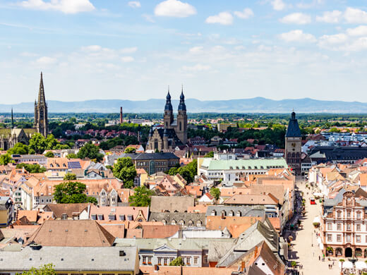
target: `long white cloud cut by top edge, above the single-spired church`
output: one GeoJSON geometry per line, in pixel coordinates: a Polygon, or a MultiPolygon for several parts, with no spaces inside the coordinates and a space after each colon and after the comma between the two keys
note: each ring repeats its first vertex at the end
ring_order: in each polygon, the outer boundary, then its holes
{"type": "Polygon", "coordinates": [[[95,6],[89,0],[26,0],[18,3],[23,8],[41,11],[61,11],[62,13],[81,13],[94,11],[95,6]]]}

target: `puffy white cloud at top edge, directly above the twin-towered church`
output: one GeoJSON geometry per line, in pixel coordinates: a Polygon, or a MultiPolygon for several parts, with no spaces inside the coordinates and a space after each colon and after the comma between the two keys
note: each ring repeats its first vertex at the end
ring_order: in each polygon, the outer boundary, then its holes
{"type": "Polygon", "coordinates": [[[188,17],[196,14],[196,9],[188,3],[179,0],[166,0],[155,6],[156,16],[188,17]]]}

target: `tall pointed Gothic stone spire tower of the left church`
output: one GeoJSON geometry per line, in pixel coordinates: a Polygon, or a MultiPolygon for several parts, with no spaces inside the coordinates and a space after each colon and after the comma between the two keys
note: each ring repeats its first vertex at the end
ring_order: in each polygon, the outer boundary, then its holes
{"type": "Polygon", "coordinates": [[[43,78],[41,72],[40,91],[38,92],[38,102],[35,102],[35,128],[37,133],[47,137],[49,121],[47,119],[47,103],[44,98],[43,78]]]}

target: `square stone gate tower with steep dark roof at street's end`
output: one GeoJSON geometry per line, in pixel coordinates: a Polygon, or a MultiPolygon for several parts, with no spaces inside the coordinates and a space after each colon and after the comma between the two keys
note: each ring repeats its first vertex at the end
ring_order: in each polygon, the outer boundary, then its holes
{"type": "Polygon", "coordinates": [[[294,111],[291,113],[287,133],[285,135],[285,158],[287,164],[294,170],[298,176],[301,175],[301,130],[294,111]]]}

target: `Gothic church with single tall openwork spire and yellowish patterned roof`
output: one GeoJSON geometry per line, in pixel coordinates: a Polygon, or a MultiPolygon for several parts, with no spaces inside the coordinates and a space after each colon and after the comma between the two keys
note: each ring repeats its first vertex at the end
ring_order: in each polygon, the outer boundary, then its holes
{"type": "Polygon", "coordinates": [[[35,124],[34,128],[18,129],[13,126],[13,109],[11,109],[11,128],[0,128],[0,148],[7,150],[14,147],[16,143],[22,142],[28,145],[28,141],[35,133],[41,133],[47,137],[48,133],[47,103],[44,98],[44,87],[41,73],[40,90],[38,102],[35,102],[35,124]]]}

